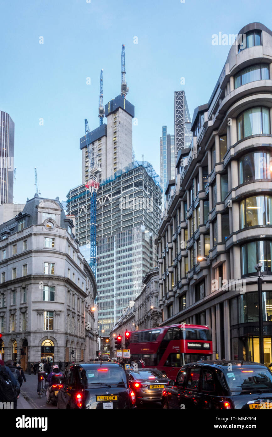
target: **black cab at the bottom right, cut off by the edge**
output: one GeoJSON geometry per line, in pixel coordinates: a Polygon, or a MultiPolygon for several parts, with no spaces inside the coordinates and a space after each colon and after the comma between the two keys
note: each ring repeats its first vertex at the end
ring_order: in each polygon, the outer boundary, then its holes
{"type": "Polygon", "coordinates": [[[272,373],[251,361],[185,364],[162,392],[164,408],[272,408],[272,373]]]}

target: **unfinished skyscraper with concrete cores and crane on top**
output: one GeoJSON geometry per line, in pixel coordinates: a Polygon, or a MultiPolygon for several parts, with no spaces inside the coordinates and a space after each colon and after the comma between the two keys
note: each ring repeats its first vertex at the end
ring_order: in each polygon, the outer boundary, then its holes
{"type": "MultiPolygon", "coordinates": [[[[121,95],[104,107],[107,124],[89,134],[99,156],[100,186],[96,203],[97,304],[99,334],[107,336],[124,307],[141,291],[148,270],[157,266],[155,237],[161,214],[160,178],[150,163],[136,161],[132,150],[134,106],[127,101],[122,47],[121,95]]],[[[101,114],[101,111],[100,111],[101,114]]],[[[101,116],[100,116],[101,117],[101,116]]],[[[67,213],[76,217],[76,238],[90,259],[90,193],[88,144],[80,139],[82,185],[67,195],[67,213]]]]}

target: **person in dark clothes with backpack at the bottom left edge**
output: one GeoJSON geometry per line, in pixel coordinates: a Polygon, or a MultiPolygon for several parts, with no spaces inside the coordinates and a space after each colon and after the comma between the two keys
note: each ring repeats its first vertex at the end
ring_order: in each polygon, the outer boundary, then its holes
{"type": "Polygon", "coordinates": [[[11,408],[17,409],[17,399],[19,395],[20,384],[17,377],[11,372],[8,366],[4,365],[3,360],[0,360],[0,402],[13,402],[11,408]]]}

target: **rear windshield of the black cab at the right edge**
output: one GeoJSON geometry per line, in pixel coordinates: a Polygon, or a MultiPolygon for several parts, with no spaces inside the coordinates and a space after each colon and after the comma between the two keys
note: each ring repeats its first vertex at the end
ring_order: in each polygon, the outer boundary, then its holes
{"type": "Polygon", "coordinates": [[[241,368],[224,372],[224,381],[232,392],[272,389],[272,375],[267,369],[241,368]]]}

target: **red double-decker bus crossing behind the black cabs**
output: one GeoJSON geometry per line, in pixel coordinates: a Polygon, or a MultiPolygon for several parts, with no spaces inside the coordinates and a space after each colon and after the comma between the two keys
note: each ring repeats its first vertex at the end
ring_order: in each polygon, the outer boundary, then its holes
{"type": "Polygon", "coordinates": [[[212,359],[212,336],[208,326],[172,325],[131,332],[131,359],[145,367],[163,370],[174,379],[185,363],[212,359]]]}

